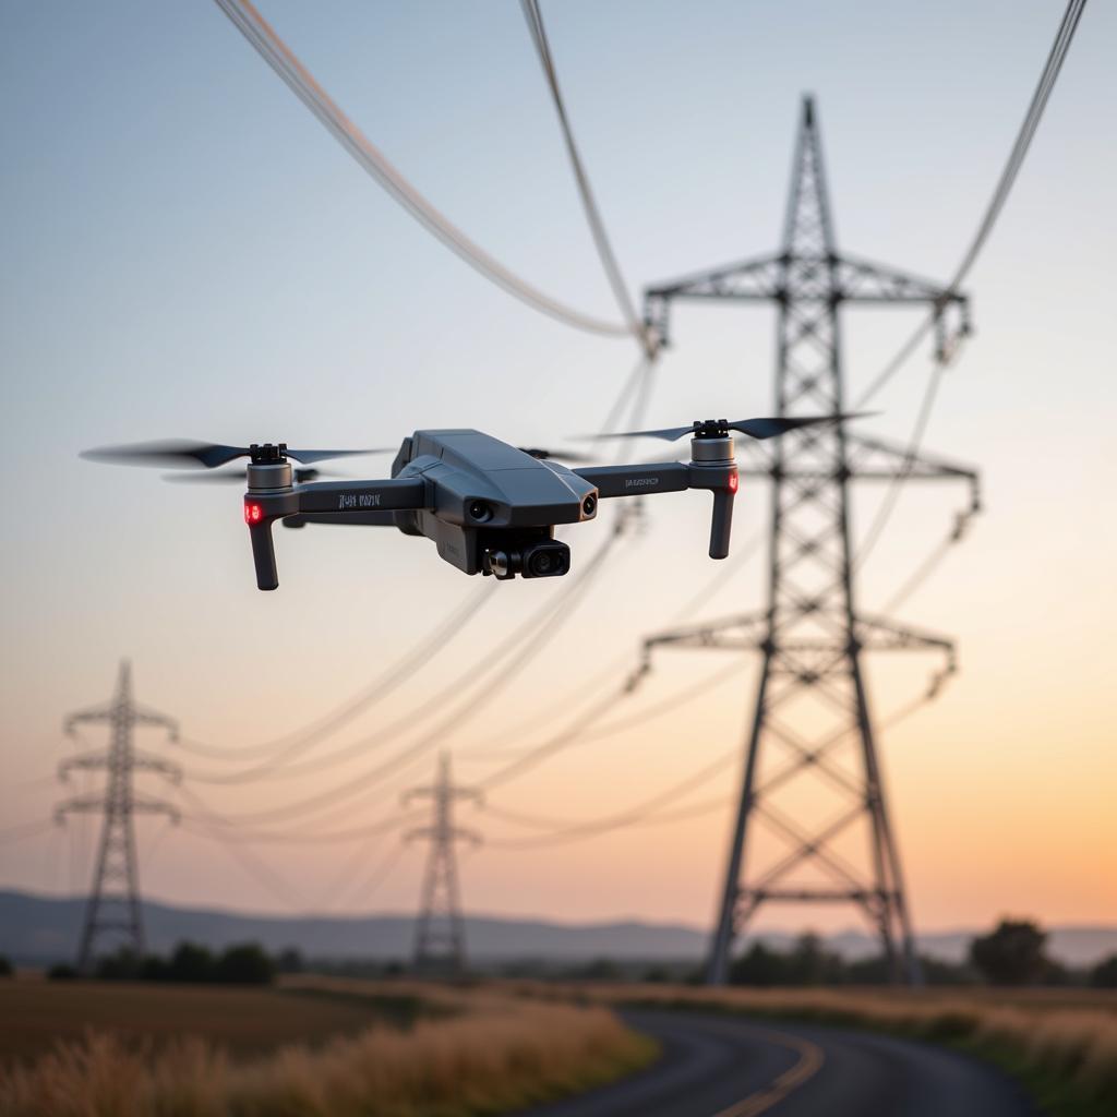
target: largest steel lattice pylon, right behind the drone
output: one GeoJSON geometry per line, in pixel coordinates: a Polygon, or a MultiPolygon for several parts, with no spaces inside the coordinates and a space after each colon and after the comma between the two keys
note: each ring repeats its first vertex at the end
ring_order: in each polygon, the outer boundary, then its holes
{"type": "MultiPolygon", "coordinates": [[[[680,298],[775,306],[780,416],[847,410],[839,332],[844,305],[929,306],[939,360],[949,335],[968,330],[965,296],[839,254],[810,97],[802,106],[783,247],[649,288],[646,318],[665,343],[670,306],[680,298]]],[[[707,977],[714,984],[725,981],[734,936],[762,904],[844,901],[860,907],[876,928],[892,978],[916,983],[918,960],[885,802],[862,653],[938,649],[951,671],[954,650],[949,640],[857,608],[849,483],[964,479],[971,486],[973,513],[978,504],[976,474],[914,457],[840,423],[787,435],[771,451],[758,443],[747,449],[760,454],[760,471],[772,483],[766,609],[660,633],[645,646],[646,668],[657,645],[752,648],[763,656],[707,977]],[[780,750],[782,756],[776,755],[780,750]],[[810,789],[813,799],[804,796],[808,780],[824,785],[831,796],[828,804],[820,801],[818,787],[810,789]],[[763,869],[746,860],[754,819],[764,821],[786,846],[763,869]],[[867,830],[867,865],[863,847],[853,846],[855,829],[867,830]]]]}

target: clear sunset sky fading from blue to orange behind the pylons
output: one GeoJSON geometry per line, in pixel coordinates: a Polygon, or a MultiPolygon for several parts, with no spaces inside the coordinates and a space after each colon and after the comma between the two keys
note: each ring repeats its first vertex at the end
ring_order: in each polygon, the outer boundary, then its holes
{"type": "MultiPolygon", "coordinates": [[[[615,317],[517,4],[261,0],[260,10],[455,223],[555,297],[615,317]]],[[[776,247],[804,92],[818,98],[839,245],[947,279],[1060,12],[1034,0],[544,6],[637,297],[646,284],[776,247]]],[[[946,373],[927,431],[928,450],[980,468],[985,502],[897,617],[955,638],[961,665],[936,701],[882,735],[914,917],[927,930],[1005,913],[1117,922],[1115,45],[1117,12],[1090,6],[967,281],[975,336],[946,373]]],[[[108,699],[122,658],[139,699],[178,718],[184,738],[245,748],[361,694],[493,589],[441,563],[426,541],[309,528],[277,531],[280,589],[258,593],[236,488],[171,486],[156,471],[83,461],[82,449],[175,436],[383,446],[423,427],[570,446],[600,427],[636,351],[537,314],[450,255],[216,4],[4,4],[0,86],[7,832],[96,786],[55,781],[75,748],[103,743],[90,728],[75,744],[61,722],[108,699]]],[[[847,313],[851,394],[917,322],[903,309],[847,313]]],[[[674,334],[650,424],[771,409],[771,311],[680,306],[674,334]]],[[[928,369],[927,353],[913,359],[862,429],[904,441],[928,369]]],[[[346,465],[375,476],[388,459],[346,465]]],[[[949,485],[909,489],[861,572],[869,611],[965,504],[949,485]]],[[[855,528],[878,499],[879,489],[858,494],[855,528]]],[[[650,502],[643,531],[622,538],[570,602],[558,581],[498,586],[454,641],[300,767],[207,782],[244,765],[141,733],[139,747],[187,774],[183,792],[151,775],[137,777],[143,791],[190,817],[178,829],[139,823],[145,892],[277,913],[411,910],[420,844],[401,846],[399,830],[338,843],[306,836],[393,817],[403,790],[429,782],[440,748],[464,783],[484,780],[617,690],[643,634],[760,605],[758,554],[706,593],[718,573],[707,517],[703,497],[650,502]],[[697,610],[696,595],[706,598],[697,610]],[[561,629],[496,699],[439,728],[459,695],[471,706],[486,663],[532,647],[516,632],[546,602],[564,602],[561,629]],[[385,780],[369,774],[417,742],[426,743],[413,763],[385,780]],[[333,752],[349,758],[331,761],[333,752]],[[336,802],[299,806],[319,793],[336,802]],[[244,821],[222,829],[214,815],[244,821]]],[[[748,551],[766,522],[765,483],[746,475],[735,550],[748,551]]],[[[607,534],[604,523],[566,533],[575,569],[607,534]]],[[[487,840],[462,862],[470,909],[709,920],[756,662],[663,657],[608,714],[647,718],[580,739],[495,787],[487,808],[462,804],[461,823],[487,840]],[[710,804],[689,818],[545,848],[525,848],[544,831],[512,821],[623,814],[723,756],[716,776],[676,804],[710,804]]],[[[934,667],[873,657],[875,713],[884,719],[917,697],[934,667]]],[[[804,825],[821,825],[834,804],[805,793],[798,810],[804,825]]],[[[18,841],[0,833],[0,886],[80,892],[93,827],[75,819],[18,841]]],[[[753,856],[779,848],[760,838],[753,856]]],[[[857,922],[851,909],[773,907],[758,926],[857,922]]]]}

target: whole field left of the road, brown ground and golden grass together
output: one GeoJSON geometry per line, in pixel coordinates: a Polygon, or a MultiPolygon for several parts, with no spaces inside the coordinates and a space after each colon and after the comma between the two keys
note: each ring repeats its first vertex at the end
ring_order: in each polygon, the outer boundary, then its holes
{"type": "Polygon", "coordinates": [[[16,981],[0,1021],[0,1117],[475,1117],[656,1054],[600,1005],[405,983],[16,981]]]}

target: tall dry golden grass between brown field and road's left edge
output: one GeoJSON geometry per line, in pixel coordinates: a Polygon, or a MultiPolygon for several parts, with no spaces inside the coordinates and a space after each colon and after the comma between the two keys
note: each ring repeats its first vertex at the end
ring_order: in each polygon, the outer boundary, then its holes
{"type": "MultiPolygon", "coordinates": [[[[360,999],[374,986],[319,987],[360,999]]],[[[607,1081],[655,1054],[602,1006],[485,990],[436,996],[457,1014],[241,1062],[200,1039],[155,1049],[89,1032],[32,1065],[9,1067],[0,1077],[0,1115],[466,1117],[607,1081]]]]}

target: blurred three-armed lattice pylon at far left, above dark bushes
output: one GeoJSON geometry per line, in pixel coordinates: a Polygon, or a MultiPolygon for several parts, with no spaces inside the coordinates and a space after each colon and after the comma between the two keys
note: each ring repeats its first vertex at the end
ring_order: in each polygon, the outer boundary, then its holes
{"type": "Polygon", "coordinates": [[[63,761],[58,765],[58,775],[66,780],[74,771],[104,770],[107,774],[105,790],[103,793],[68,799],[55,810],[55,819],[59,823],[71,813],[96,813],[105,818],[78,946],[79,973],[92,968],[94,952],[104,938],[116,938],[136,956],[144,953],[133,817],[137,813],[165,814],[176,823],[179,812],[162,800],[137,795],[132,775],[141,771],[156,772],[174,783],[182,779],[176,765],[157,756],[137,753],[133,747],[136,726],[160,726],[169,732],[172,741],[178,739],[179,727],[171,718],[135,704],[132,698],[132,669],[127,660],[121,662],[116,694],[112,700],[104,706],[70,714],[65,723],[66,733],[73,736],[78,725],[87,723],[108,725],[108,748],[80,753],[63,761]]]}

